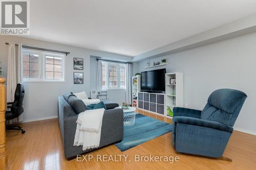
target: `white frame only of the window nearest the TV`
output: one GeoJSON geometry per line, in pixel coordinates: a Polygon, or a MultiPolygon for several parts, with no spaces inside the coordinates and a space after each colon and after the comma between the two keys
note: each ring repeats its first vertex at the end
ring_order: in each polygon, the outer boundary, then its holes
{"type": "MultiPolygon", "coordinates": [[[[126,64],[121,64],[121,63],[115,63],[115,62],[109,62],[109,61],[102,61],[101,65],[105,64],[106,65],[106,87],[107,88],[103,88],[102,84],[101,84],[101,89],[102,90],[118,90],[118,89],[126,89],[127,86],[127,67],[126,64]],[[110,87],[110,83],[109,83],[109,66],[113,65],[113,66],[117,66],[117,87],[110,87]],[[125,68],[125,87],[120,87],[120,66],[123,66],[125,68]]],[[[102,71],[102,69],[101,69],[102,71]]],[[[101,79],[102,79],[102,75],[101,75],[101,79]]],[[[101,80],[102,82],[102,80],[101,80]]]]}

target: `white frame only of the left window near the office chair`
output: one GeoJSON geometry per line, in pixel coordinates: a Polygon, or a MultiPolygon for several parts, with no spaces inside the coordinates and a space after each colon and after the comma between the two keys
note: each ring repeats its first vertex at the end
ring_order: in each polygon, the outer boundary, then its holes
{"type": "Polygon", "coordinates": [[[65,55],[57,54],[57,53],[48,53],[47,51],[37,51],[37,50],[29,50],[23,49],[22,53],[33,53],[38,55],[38,78],[23,78],[23,54],[21,64],[22,70],[22,79],[23,82],[65,82],[65,55]],[[51,57],[60,57],[61,58],[61,79],[46,79],[46,56],[51,57]]]}

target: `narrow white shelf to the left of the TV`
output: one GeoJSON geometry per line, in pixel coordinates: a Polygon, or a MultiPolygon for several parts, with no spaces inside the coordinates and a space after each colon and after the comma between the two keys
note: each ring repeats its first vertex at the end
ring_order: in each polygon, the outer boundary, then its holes
{"type": "Polygon", "coordinates": [[[139,91],[140,91],[140,76],[138,75],[138,76],[132,77],[132,106],[133,107],[138,107],[139,91]]]}

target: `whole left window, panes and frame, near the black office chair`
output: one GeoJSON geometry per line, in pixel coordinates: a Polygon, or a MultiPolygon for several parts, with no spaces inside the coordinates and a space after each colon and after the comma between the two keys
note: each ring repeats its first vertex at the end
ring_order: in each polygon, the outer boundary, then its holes
{"type": "Polygon", "coordinates": [[[64,59],[64,55],[23,50],[23,80],[63,82],[64,59]]]}

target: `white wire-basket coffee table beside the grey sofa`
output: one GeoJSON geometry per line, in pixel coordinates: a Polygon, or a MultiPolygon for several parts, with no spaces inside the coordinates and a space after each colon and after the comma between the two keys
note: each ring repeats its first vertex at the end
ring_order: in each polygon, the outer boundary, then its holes
{"type": "MultiPolygon", "coordinates": [[[[117,107],[122,109],[121,107],[117,107]]],[[[128,109],[123,110],[123,126],[133,126],[135,124],[135,115],[136,115],[136,108],[129,107],[128,109]]]]}

